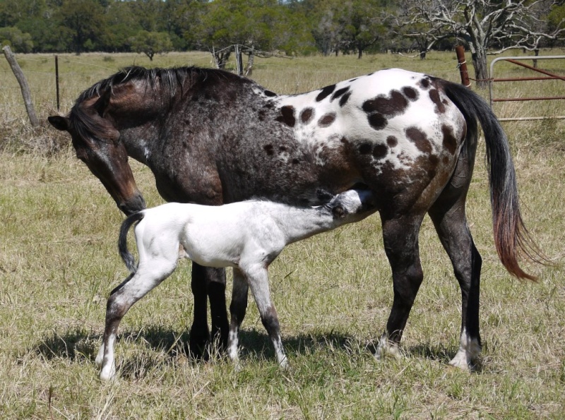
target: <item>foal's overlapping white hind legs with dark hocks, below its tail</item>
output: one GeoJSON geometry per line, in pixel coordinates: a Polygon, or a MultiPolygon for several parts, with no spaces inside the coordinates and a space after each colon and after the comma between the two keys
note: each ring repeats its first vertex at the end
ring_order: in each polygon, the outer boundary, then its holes
{"type": "Polygon", "coordinates": [[[177,266],[177,254],[173,255],[174,258],[154,259],[148,261],[147,264],[140,265],[131,280],[120,284],[109,296],[106,305],[104,339],[96,357],[96,363],[102,367],[101,380],[111,380],[116,375],[114,343],[121,318],[124,318],[126,312],[136,301],[157,287],[174,271],[177,266]]]}

